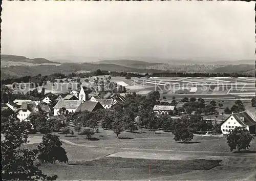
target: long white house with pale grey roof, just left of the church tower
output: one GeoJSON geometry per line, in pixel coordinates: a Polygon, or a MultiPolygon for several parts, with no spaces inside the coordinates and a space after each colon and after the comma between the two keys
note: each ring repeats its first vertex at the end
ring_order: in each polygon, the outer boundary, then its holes
{"type": "Polygon", "coordinates": [[[62,107],[66,108],[69,112],[75,112],[82,102],[82,100],[59,100],[53,107],[53,116],[60,115],[59,109],[62,107]]]}

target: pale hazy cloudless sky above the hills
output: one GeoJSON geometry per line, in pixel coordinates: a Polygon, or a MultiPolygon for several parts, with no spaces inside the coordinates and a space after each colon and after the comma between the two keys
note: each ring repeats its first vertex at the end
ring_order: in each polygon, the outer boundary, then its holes
{"type": "Polygon", "coordinates": [[[134,57],[254,60],[254,5],[233,1],[3,1],[1,54],[72,61],[134,57]]]}

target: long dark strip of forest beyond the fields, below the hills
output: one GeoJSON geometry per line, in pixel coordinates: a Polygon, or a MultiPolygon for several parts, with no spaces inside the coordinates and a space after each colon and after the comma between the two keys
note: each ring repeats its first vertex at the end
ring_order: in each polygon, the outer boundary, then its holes
{"type": "Polygon", "coordinates": [[[51,81],[54,82],[54,79],[63,79],[63,78],[72,78],[72,77],[80,77],[80,78],[89,78],[92,76],[100,76],[100,75],[110,75],[113,77],[253,77],[251,75],[244,75],[244,74],[238,74],[238,73],[170,73],[170,72],[164,72],[164,73],[153,73],[153,74],[140,74],[140,73],[126,73],[126,72],[109,72],[109,71],[101,71],[96,70],[91,73],[72,73],[72,74],[61,74],[61,73],[55,73],[51,74],[49,76],[41,76],[40,74],[37,76],[25,76],[25,77],[19,77],[19,78],[8,78],[1,80],[2,85],[3,84],[12,84],[12,83],[28,83],[33,82],[41,86],[45,81],[51,81]]]}

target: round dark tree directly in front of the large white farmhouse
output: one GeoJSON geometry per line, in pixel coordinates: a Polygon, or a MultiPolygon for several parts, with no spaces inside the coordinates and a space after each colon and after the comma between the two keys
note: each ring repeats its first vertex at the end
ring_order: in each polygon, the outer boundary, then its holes
{"type": "Polygon", "coordinates": [[[231,129],[227,135],[227,143],[230,151],[238,149],[240,152],[241,149],[249,149],[252,140],[253,137],[250,132],[243,127],[231,129]]]}

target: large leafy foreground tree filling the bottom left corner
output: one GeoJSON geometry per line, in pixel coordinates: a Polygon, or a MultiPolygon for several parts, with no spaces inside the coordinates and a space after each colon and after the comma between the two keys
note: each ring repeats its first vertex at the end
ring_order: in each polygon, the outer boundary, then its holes
{"type": "Polygon", "coordinates": [[[2,123],[2,179],[3,180],[55,180],[42,173],[35,164],[38,150],[22,149],[28,143],[28,122],[20,122],[11,117],[8,122],[2,123]],[[10,171],[26,171],[26,174],[10,174],[10,171]]]}

